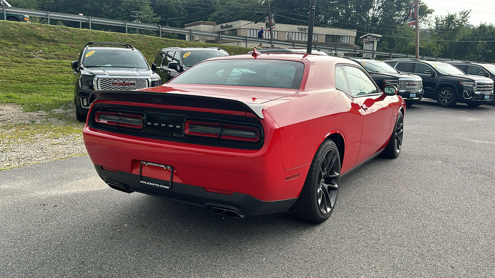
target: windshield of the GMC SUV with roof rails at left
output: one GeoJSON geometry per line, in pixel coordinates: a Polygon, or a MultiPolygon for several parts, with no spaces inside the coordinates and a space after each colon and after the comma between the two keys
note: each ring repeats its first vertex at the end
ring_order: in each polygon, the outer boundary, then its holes
{"type": "Polygon", "coordinates": [[[125,50],[86,50],[83,66],[148,69],[141,53],[125,50]]]}

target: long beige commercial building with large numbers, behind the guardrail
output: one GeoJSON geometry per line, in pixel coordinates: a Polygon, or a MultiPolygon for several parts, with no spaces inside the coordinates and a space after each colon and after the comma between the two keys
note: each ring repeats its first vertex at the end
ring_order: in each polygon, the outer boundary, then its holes
{"type": "MultiPolygon", "coordinates": [[[[252,21],[247,20],[238,20],[223,24],[216,24],[211,21],[197,21],[186,24],[184,27],[186,29],[256,38],[258,30],[264,25],[264,22],[253,23],[252,21]]],[[[308,26],[277,23],[272,32],[274,40],[293,43],[293,46],[291,46],[290,44],[277,44],[274,42],[274,47],[302,48],[300,46],[294,47],[295,43],[306,43],[308,40],[308,26]]],[[[219,43],[218,37],[193,36],[192,40],[189,37],[189,35],[186,35],[187,41],[219,43]]],[[[269,31],[265,31],[265,39],[270,39],[269,31]]],[[[322,48],[324,51],[331,51],[336,46],[361,48],[354,44],[356,39],[356,30],[314,27],[312,39],[313,46],[322,48]]],[[[228,39],[222,39],[222,44],[231,46],[246,46],[245,42],[229,41],[228,39]]],[[[248,46],[257,46],[257,44],[249,43],[248,46]]],[[[270,44],[263,44],[263,48],[268,47],[270,47],[270,44]]]]}

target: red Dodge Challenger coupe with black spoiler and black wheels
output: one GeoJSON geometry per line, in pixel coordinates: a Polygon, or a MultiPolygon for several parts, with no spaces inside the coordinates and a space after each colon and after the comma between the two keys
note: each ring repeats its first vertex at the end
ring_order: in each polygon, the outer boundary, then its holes
{"type": "Polygon", "coordinates": [[[224,56],[140,91],[94,91],[84,142],[110,187],[243,217],[332,213],[340,179],[402,146],[404,100],[357,63],[224,56]]]}

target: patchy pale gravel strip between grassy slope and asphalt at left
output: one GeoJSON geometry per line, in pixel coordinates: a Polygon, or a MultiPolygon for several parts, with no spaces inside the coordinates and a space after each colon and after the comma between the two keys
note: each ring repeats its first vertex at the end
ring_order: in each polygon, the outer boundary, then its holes
{"type": "Polygon", "coordinates": [[[56,119],[48,117],[45,111],[23,112],[19,105],[0,104],[0,136],[13,135],[13,139],[0,139],[0,169],[87,154],[81,134],[53,137],[47,130],[42,134],[33,132],[29,135],[29,139],[15,137],[17,128],[21,126],[29,127],[36,124],[63,126],[77,123],[73,111],[73,107],[55,109],[53,113],[67,116],[67,119],[56,119]]]}

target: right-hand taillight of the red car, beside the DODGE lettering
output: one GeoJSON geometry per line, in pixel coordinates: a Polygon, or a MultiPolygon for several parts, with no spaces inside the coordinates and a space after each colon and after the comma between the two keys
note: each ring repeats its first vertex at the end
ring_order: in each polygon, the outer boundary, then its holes
{"type": "Polygon", "coordinates": [[[260,139],[257,128],[213,122],[186,121],[184,133],[192,136],[247,142],[257,142],[260,139]]]}

